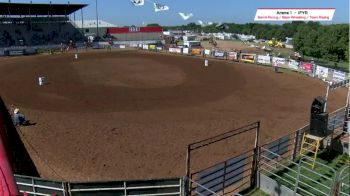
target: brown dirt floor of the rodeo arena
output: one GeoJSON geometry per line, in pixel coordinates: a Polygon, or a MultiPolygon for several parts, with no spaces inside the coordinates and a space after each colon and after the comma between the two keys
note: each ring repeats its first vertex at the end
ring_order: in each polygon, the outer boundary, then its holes
{"type": "MultiPolygon", "coordinates": [[[[209,63],[142,51],[1,58],[0,95],[37,123],[19,131],[42,177],[92,181],[184,176],[189,143],[259,120],[261,143],[275,140],[307,124],[326,90],[294,72],[209,63]]],[[[345,100],[345,89],[332,91],[329,110],[345,100]]],[[[237,137],[196,160],[208,166],[253,141],[237,137]]]]}

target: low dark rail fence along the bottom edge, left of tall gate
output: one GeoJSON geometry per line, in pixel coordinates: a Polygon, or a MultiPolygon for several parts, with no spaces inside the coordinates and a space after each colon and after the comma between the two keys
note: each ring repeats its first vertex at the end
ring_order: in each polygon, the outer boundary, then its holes
{"type": "Polygon", "coordinates": [[[184,195],[184,180],[182,178],[139,181],[64,182],[15,175],[15,179],[20,192],[27,195],[184,195]]]}

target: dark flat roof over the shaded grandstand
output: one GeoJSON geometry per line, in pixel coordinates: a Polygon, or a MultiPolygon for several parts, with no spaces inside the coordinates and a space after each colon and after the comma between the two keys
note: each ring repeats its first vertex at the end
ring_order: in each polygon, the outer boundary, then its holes
{"type": "Polygon", "coordinates": [[[87,4],[44,4],[0,2],[0,15],[69,15],[87,4]]]}

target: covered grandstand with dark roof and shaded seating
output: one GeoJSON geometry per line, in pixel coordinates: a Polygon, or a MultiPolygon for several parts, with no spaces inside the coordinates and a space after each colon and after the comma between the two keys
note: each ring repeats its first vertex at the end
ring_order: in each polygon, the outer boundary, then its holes
{"type": "Polygon", "coordinates": [[[0,3],[0,47],[82,41],[69,15],[86,4],[0,3]]]}

